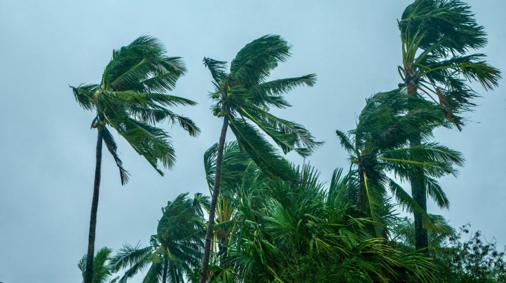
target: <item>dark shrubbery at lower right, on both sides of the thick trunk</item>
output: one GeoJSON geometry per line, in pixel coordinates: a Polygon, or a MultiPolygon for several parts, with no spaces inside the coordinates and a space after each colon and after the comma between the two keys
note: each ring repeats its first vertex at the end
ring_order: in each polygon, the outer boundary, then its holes
{"type": "MultiPolygon", "coordinates": [[[[470,231],[469,224],[456,231],[443,216],[431,215],[437,229],[429,232],[429,250],[434,258],[434,275],[439,282],[505,282],[505,251],[497,249],[494,238],[487,240],[481,231],[470,231]]],[[[388,245],[406,253],[414,251],[414,224],[397,218],[388,245]]]]}

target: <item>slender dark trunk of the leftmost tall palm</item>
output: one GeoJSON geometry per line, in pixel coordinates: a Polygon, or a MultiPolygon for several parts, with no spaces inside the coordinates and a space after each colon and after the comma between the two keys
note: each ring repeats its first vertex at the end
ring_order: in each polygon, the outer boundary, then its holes
{"type": "Polygon", "coordinates": [[[86,269],[84,283],[92,283],[93,280],[93,256],[95,254],[95,229],[96,211],[98,209],[98,192],[100,189],[100,177],[102,166],[102,132],[98,131],[96,138],[96,164],[95,181],[93,185],[92,212],[89,216],[88,252],[86,256],[86,269]]]}

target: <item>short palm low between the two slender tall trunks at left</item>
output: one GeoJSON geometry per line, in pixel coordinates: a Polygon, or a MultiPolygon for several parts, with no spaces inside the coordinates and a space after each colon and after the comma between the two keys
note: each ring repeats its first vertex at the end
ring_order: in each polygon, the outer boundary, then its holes
{"type": "Polygon", "coordinates": [[[127,269],[118,283],[127,282],[149,265],[143,282],[185,282],[185,273],[200,266],[204,246],[202,197],[197,194],[188,199],[187,195],[180,194],[162,208],[162,218],[149,246],[125,244],[111,259],[113,270],[127,269]]]}

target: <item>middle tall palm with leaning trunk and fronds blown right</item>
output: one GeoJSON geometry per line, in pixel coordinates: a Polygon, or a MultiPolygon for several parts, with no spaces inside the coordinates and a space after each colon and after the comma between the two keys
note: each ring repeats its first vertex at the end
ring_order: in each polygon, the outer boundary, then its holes
{"type": "Polygon", "coordinates": [[[320,144],[313,140],[313,136],[304,126],[269,113],[271,107],[290,106],[282,96],[284,93],[299,85],[311,87],[315,84],[315,74],[267,81],[269,73],[277,67],[277,63],[284,62],[290,56],[289,51],[288,43],[280,36],[266,35],[244,46],[232,60],[228,73],[226,62],[204,58],[204,65],[211,71],[215,86],[215,91],[211,94],[211,98],[216,101],[213,114],[223,117],[223,126],[216,156],[215,183],[209,207],[201,283],[207,280],[227,129],[231,128],[240,148],[273,178],[293,179],[293,170],[286,160],[277,155],[275,148],[257,128],[271,137],[284,153],[295,150],[306,156],[320,144]]]}

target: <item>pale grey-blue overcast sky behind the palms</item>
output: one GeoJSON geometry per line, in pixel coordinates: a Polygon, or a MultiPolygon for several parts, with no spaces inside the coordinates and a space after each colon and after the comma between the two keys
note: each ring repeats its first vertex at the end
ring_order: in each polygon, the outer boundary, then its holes
{"type": "MultiPolygon", "coordinates": [[[[506,70],[506,1],[468,1],[489,45],[479,52],[506,70]]],[[[230,61],[253,39],[280,34],[293,56],[272,78],[317,73],[313,88],[287,98],[277,111],[304,124],[326,144],[308,159],[330,181],[347,167],[335,130],[355,126],[365,98],[400,82],[397,19],[403,1],[17,1],[0,0],[0,281],[79,282],[76,263],[87,247],[94,177],[93,113],[83,111],[69,84],[96,83],[112,49],[143,34],[182,56],[188,73],[175,94],[198,106],[178,109],[202,128],[198,138],[163,125],[178,161],[160,177],[120,137],[131,181],[121,186],[104,152],[96,247],[145,244],[156,232],[160,208],[182,192],[207,192],[202,155],[218,141],[220,120],[209,111],[212,90],[204,56],[230,61]]],[[[452,225],[472,223],[487,238],[506,244],[506,93],[504,82],[483,93],[464,131],[439,130],[436,139],[461,150],[467,162],[458,179],[441,181],[450,210],[430,204],[452,225]]],[[[295,155],[288,159],[302,160],[295,155]]]]}

